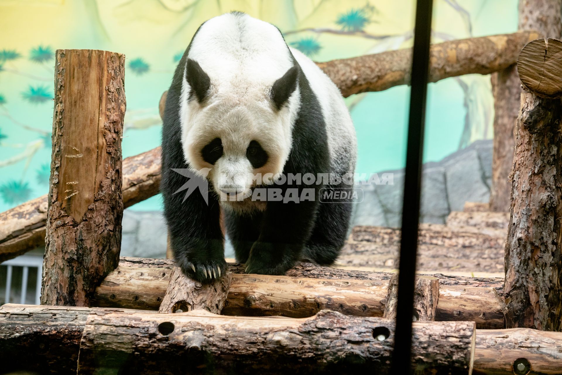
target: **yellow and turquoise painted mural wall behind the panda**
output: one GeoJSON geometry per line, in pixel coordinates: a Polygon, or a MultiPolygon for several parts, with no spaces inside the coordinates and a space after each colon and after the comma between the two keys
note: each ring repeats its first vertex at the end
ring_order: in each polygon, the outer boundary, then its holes
{"type": "MultiPolygon", "coordinates": [[[[48,192],[57,48],[125,53],[124,157],[160,144],[157,104],[205,20],[239,10],[271,22],[316,61],[411,47],[414,0],[3,0],[0,2],[0,211],[48,192]]],[[[434,0],[433,42],[511,33],[517,0],[434,0]]],[[[409,88],[346,99],[358,173],[404,166],[409,88]]],[[[430,84],[424,161],[492,136],[489,76],[430,84]]],[[[160,197],[133,206],[160,210],[160,197]]]]}

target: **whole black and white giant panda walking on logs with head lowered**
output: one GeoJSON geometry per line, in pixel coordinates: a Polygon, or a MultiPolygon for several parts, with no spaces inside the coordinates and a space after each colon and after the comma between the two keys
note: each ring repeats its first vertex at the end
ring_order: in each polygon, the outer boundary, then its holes
{"type": "Polygon", "coordinates": [[[247,273],[282,275],[297,260],[333,263],[352,202],[320,202],[320,192],[347,186],[338,178],[295,186],[279,176],[349,176],[355,129],[336,85],[277,27],[242,12],[204,22],[175,70],[163,122],[164,216],[185,275],[205,282],[225,273],[222,220],[247,273]],[[178,192],[188,180],[178,170],[206,179],[207,197],[178,192]],[[257,174],[275,177],[244,178],[257,174]],[[314,199],[253,200],[248,192],[258,187],[312,188],[314,199]]]}

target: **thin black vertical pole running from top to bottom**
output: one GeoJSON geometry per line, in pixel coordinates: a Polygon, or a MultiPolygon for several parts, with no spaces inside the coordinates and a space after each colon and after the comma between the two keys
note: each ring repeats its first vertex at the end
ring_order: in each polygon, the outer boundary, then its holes
{"type": "Polygon", "coordinates": [[[414,281],[418,251],[425,99],[429,75],[432,7],[433,0],[417,0],[392,374],[410,374],[412,372],[410,357],[412,319],[414,316],[414,281]]]}

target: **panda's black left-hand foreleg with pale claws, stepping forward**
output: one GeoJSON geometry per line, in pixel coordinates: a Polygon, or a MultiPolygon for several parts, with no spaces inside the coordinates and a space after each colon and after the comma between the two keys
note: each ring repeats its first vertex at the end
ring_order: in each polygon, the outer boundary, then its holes
{"type": "Polygon", "coordinates": [[[211,281],[226,271],[220,205],[212,193],[207,205],[198,190],[184,201],[185,191],[176,191],[186,181],[182,175],[163,168],[161,190],[170,246],[185,275],[201,282],[211,281]]]}

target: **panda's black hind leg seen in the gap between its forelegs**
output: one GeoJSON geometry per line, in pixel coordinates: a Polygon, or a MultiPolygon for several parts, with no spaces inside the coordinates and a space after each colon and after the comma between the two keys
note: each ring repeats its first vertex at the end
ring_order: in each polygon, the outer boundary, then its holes
{"type": "Polygon", "coordinates": [[[234,247],[234,254],[238,263],[246,263],[253,243],[260,237],[261,220],[263,213],[237,213],[225,209],[226,233],[234,247]]]}

